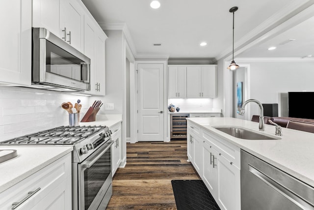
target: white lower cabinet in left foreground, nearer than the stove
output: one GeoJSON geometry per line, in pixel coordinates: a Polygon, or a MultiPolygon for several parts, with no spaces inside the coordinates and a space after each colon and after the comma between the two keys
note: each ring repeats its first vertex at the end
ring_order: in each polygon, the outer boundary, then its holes
{"type": "Polygon", "coordinates": [[[71,153],[0,193],[1,210],[71,210],[71,153]]]}

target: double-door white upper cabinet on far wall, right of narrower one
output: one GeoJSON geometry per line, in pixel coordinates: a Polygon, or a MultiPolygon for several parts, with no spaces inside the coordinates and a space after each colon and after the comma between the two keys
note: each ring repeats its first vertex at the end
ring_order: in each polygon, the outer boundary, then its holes
{"type": "Polygon", "coordinates": [[[216,65],[191,65],[186,68],[186,97],[216,97],[216,65]]]}

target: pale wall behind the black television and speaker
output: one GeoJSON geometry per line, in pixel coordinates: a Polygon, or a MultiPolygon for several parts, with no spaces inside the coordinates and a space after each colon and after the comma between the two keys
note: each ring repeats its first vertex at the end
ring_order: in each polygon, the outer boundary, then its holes
{"type": "MultiPolygon", "coordinates": [[[[314,62],[294,60],[236,60],[236,63],[250,65],[250,98],[261,103],[278,103],[279,116],[285,116],[287,98],[281,101],[281,95],[288,91],[314,91],[314,62]]],[[[300,105],[302,107],[302,105],[300,105]]],[[[251,105],[251,115],[259,115],[258,105],[251,105]]]]}

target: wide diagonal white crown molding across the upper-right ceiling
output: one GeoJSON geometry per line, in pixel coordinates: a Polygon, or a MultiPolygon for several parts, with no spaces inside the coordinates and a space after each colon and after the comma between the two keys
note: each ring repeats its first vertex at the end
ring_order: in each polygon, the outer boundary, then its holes
{"type": "MultiPolygon", "coordinates": [[[[259,44],[260,42],[274,37],[289,28],[296,26],[304,20],[313,17],[314,13],[314,0],[302,0],[293,1],[288,4],[279,12],[272,15],[270,18],[265,20],[262,24],[257,26],[254,30],[251,30],[245,36],[240,38],[235,45],[235,55],[239,55],[245,50],[259,44]]],[[[232,46],[217,57],[216,60],[223,58],[231,58],[232,46]]]]}

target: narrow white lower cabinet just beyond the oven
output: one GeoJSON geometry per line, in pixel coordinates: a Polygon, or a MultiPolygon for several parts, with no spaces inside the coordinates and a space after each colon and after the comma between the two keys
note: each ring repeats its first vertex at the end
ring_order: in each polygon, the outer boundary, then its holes
{"type": "Polygon", "coordinates": [[[121,123],[110,127],[110,130],[112,132],[111,140],[113,141],[111,146],[111,172],[113,177],[121,163],[121,123]]]}

